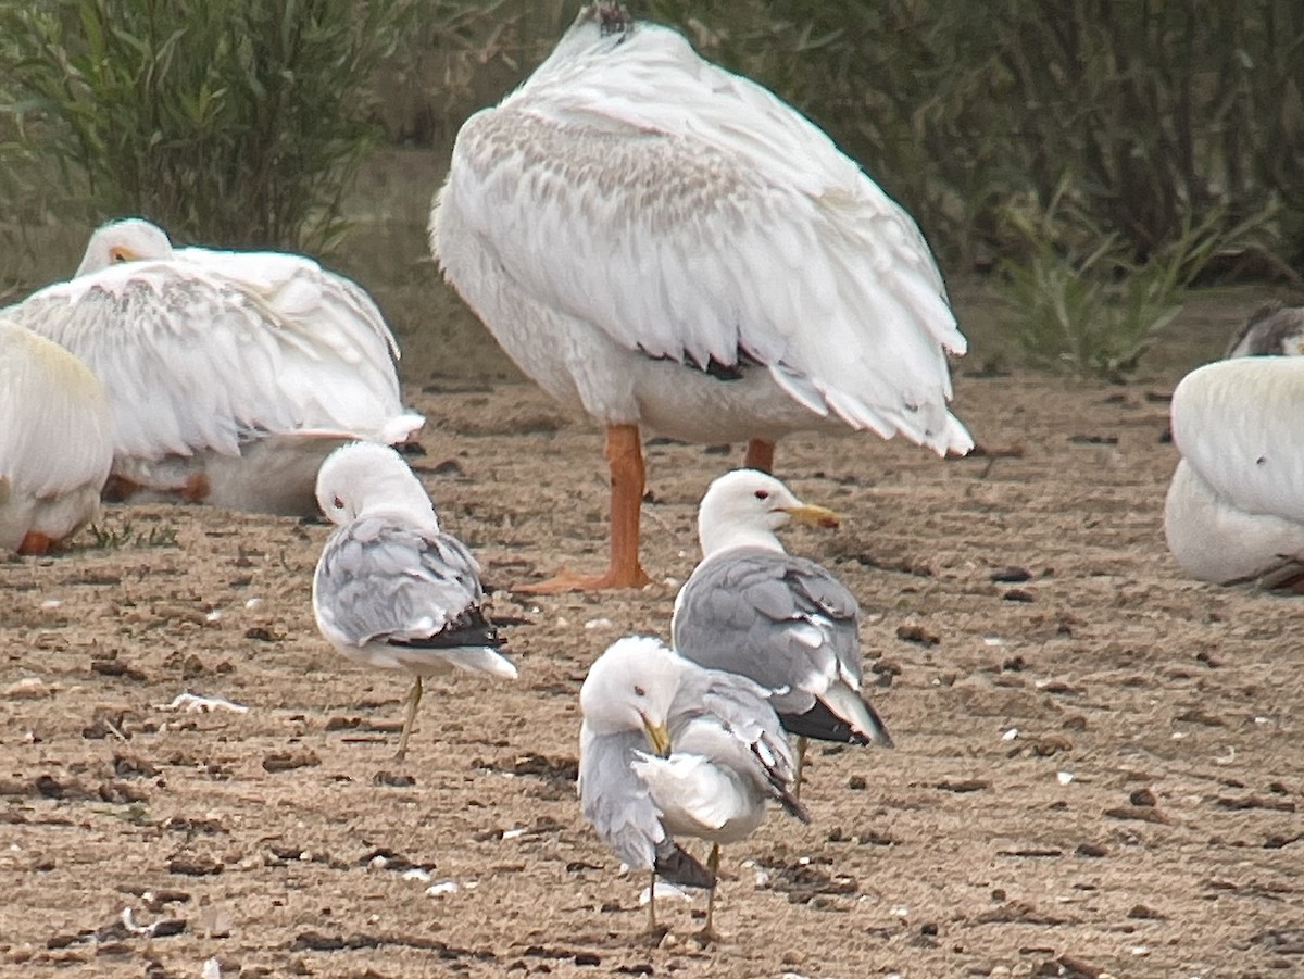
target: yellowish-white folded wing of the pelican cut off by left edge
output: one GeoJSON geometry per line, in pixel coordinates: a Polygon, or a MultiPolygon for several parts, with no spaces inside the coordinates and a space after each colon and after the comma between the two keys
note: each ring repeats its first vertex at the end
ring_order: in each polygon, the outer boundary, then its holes
{"type": "Polygon", "coordinates": [[[37,498],[108,477],[108,402],[77,357],[0,318],[0,478],[37,498]]]}

